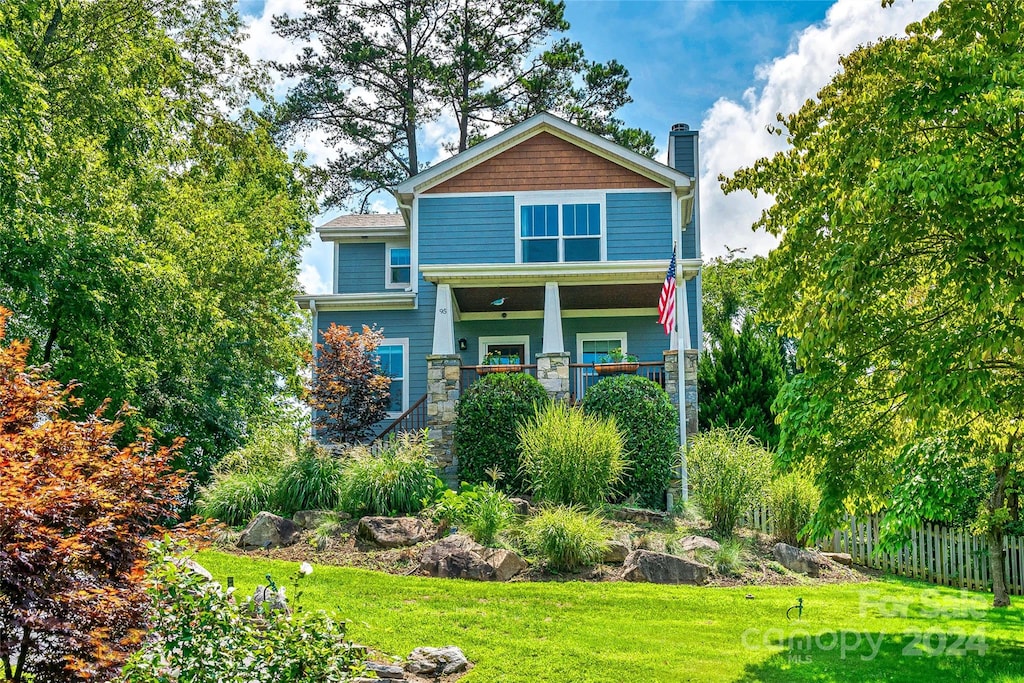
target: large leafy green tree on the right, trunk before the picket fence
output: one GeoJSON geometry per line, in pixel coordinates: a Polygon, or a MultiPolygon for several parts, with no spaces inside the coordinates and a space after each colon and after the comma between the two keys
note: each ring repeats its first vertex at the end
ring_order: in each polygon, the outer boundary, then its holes
{"type": "Polygon", "coordinates": [[[780,451],[817,461],[815,531],[888,506],[898,544],[955,511],[954,462],[976,467],[996,606],[1024,470],[1022,26],[1020,3],[944,3],[857,49],[779,117],[792,147],[725,183],[775,198],[765,306],[805,371],[777,401],[780,451]]]}

